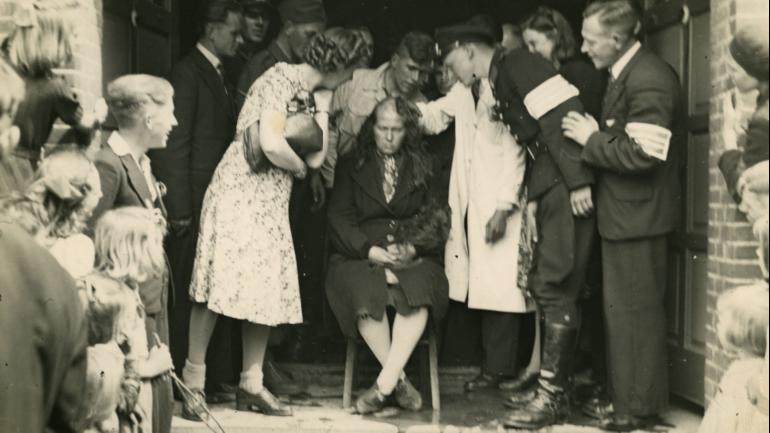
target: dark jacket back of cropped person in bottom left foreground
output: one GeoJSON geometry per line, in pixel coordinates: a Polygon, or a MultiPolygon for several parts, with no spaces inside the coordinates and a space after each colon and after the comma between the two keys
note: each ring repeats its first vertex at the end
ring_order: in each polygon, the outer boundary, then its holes
{"type": "Polygon", "coordinates": [[[0,223],[0,431],[80,432],[88,333],[69,273],[0,223]]]}

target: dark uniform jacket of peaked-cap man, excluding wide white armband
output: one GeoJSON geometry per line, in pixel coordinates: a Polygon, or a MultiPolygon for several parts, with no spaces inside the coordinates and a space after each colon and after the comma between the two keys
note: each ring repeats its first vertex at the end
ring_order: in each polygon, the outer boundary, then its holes
{"type": "Polygon", "coordinates": [[[571,97],[539,119],[534,119],[524,105],[529,92],[556,75],[551,62],[523,48],[498,51],[492,59],[490,83],[501,119],[535,158],[527,182],[531,200],[559,182],[570,191],[594,182],[593,173],[580,160],[580,145],[565,138],[561,129],[561,119],[568,112],[583,112],[580,99],[571,97]]]}

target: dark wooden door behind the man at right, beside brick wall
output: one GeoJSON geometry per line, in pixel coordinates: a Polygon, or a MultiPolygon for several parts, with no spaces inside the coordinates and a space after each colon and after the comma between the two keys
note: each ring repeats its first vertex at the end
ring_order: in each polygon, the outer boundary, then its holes
{"type": "Polygon", "coordinates": [[[679,74],[687,116],[682,224],[672,236],[667,290],[671,392],[703,404],[709,185],[709,3],[648,0],[646,43],[679,74]]]}

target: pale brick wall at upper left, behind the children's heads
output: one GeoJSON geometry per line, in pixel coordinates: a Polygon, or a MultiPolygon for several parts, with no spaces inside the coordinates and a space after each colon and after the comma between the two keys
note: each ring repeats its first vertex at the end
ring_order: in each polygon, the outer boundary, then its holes
{"type": "MultiPolygon", "coordinates": [[[[22,3],[33,0],[0,0],[0,38],[13,29],[14,11],[22,3]]],[[[61,8],[61,13],[75,21],[74,52],[72,65],[55,72],[65,77],[76,90],[83,108],[90,110],[102,94],[102,0],[34,0],[44,5],[61,8]]],[[[49,143],[56,143],[68,129],[57,121],[49,143]]],[[[99,142],[98,134],[94,143],[99,142]]]]}

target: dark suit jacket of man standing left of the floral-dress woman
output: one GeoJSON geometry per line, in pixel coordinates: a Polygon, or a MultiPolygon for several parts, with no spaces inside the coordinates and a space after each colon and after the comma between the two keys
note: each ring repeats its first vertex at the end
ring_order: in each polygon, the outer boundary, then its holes
{"type": "Polygon", "coordinates": [[[224,81],[196,48],[174,66],[174,115],[179,122],[166,149],[153,151],[152,171],[168,188],[171,219],[193,217],[235,134],[236,113],[224,81]]]}

